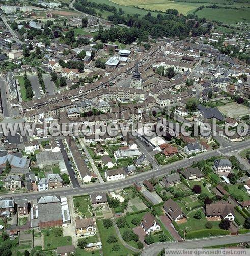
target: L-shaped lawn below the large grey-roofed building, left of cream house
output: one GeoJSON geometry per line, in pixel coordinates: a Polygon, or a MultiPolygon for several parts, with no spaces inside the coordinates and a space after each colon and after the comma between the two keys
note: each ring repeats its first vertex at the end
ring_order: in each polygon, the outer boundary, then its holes
{"type": "Polygon", "coordinates": [[[72,238],[71,237],[63,237],[58,236],[55,237],[52,230],[49,229],[43,229],[42,230],[43,237],[44,237],[44,249],[56,249],[59,246],[64,245],[72,245],[72,238]],[[48,231],[48,232],[47,232],[48,231]],[[47,236],[48,234],[48,236],[47,236]]]}

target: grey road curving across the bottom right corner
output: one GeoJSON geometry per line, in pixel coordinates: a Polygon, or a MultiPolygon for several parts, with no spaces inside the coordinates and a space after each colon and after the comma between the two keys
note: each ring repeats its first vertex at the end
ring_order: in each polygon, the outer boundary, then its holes
{"type": "Polygon", "coordinates": [[[237,236],[223,236],[223,237],[189,240],[189,241],[179,242],[179,243],[158,243],[158,244],[156,243],[156,244],[147,246],[143,250],[142,256],[158,255],[158,253],[165,248],[171,248],[171,249],[191,249],[191,248],[201,248],[201,247],[204,248],[204,247],[210,247],[215,245],[224,245],[224,244],[230,244],[230,243],[240,243],[240,242],[249,242],[249,241],[250,241],[250,234],[248,233],[248,234],[242,234],[237,236]]]}

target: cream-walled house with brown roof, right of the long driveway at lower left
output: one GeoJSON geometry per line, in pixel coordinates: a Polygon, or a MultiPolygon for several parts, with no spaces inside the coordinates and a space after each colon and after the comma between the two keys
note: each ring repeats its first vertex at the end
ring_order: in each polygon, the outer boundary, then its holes
{"type": "Polygon", "coordinates": [[[77,236],[95,235],[95,225],[91,218],[75,220],[75,234],[77,236]]]}

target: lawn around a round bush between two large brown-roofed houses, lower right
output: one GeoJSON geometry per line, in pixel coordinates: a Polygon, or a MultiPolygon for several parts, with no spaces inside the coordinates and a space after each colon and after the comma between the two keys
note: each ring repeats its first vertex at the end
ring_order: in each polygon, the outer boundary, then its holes
{"type": "MultiPolygon", "coordinates": [[[[197,211],[201,211],[201,210],[197,210],[197,211]]],[[[204,213],[202,213],[202,218],[200,220],[193,218],[193,215],[195,215],[197,211],[193,211],[188,215],[187,222],[178,225],[183,231],[185,231],[185,228],[188,228],[189,231],[205,229],[205,224],[207,223],[207,219],[204,213]]],[[[210,223],[212,223],[213,225],[212,228],[219,228],[220,221],[210,221],[210,223]]]]}

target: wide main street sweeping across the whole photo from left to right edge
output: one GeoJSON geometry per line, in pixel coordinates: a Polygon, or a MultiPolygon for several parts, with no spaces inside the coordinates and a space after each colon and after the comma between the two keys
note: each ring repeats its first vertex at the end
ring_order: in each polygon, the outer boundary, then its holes
{"type": "Polygon", "coordinates": [[[39,196],[48,196],[48,195],[58,195],[58,196],[76,196],[76,195],[82,195],[82,194],[90,194],[93,192],[101,192],[101,191],[114,191],[117,189],[122,189],[125,187],[129,187],[130,185],[136,183],[136,182],[142,182],[145,179],[150,179],[152,177],[159,177],[163,176],[165,174],[168,174],[172,170],[177,170],[179,168],[186,168],[193,164],[193,162],[198,162],[201,160],[206,160],[213,156],[219,156],[221,154],[227,154],[229,152],[232,152],[234,150],[243,150],[247,147],[250,147],[250,140],[243,141],[239,143],[234,143],[234,145],[223,148],[223,149],[217,149],[213,151],[209,151],[206,153],[198,154],[193,159],[183,159],[181,161],[173,162],[170,165],[162,166],[158,170],[155,171],[147,171],[144,173],[140,173],[137,175],[134,175],[132,177],[128,177],[123,180],[117,180],[113,182],[105,182],[105,183],[98,183],[98,184],[90,184],[86,185],[84,188],[63,188],[63,189],[57,189],[56,191],[48,190],[48,191],[38,191],[38,192],[29,192],[29,193],[16,193],[16,194],[6,194],[2,195],[2,198],[5,197],[13,197],[15,199],[35,199],[39,196]]]}

